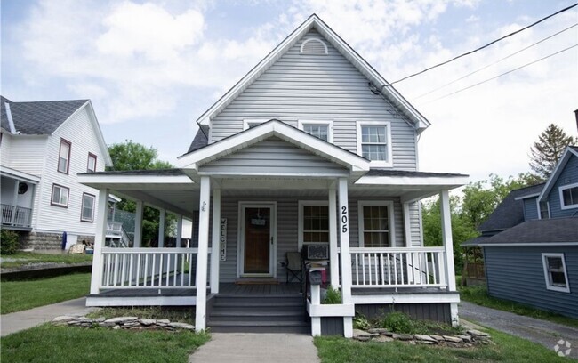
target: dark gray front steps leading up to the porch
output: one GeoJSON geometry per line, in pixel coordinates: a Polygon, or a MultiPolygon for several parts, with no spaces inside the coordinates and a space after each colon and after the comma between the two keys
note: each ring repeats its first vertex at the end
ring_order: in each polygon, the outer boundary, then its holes
{"type": "Polygon", "coordinates": [[[207,326],[212,332],[311,332],[301,294],[219,294],[209,304],[207,326]]]}

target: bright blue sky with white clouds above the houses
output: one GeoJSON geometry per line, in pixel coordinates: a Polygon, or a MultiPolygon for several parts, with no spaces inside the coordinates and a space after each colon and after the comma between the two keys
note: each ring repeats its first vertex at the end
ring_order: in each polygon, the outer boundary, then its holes
{"type": "MultiPolygon", "coordinates": [[[[313,12],[392,82],[570,4],[2,0],[1,92],[12,101],[91,99],[108,143],[131,139],[174,163],[197,117],[313,12]]],[[[578,27],[419,97],[576,22],[574,8],[397,84],[432,123],[421,136],[421,170],[469,173],[472,181],[526,172],[547,125],[576,135],[578,48],[440,97],[578,43],[578,27]]]]}

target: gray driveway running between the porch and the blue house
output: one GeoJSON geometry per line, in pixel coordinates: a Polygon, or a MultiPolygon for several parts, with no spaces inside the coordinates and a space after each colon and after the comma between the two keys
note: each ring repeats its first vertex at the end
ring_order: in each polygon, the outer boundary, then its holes
{"type": "Polygon", "coordinates": [[[485,308],[468,302],[460,303],[458,311],[462,319],[525,338],[551,350],[554,350],[559,340],[566,340],[572,344],[570,357],[578,359],[578,329],[575,327],[485,308]]]}

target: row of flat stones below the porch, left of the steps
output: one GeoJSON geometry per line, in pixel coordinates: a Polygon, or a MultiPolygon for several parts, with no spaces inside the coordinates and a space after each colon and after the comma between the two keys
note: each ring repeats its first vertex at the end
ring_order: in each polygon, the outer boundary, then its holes
{"type": "Polygon", "coordinates": [[[52,319],[52,324],[70,327],[109,327],[112,329],[132,330],[190,330],[195,331],[195,326],[186,323],[172,322],[168,319],[141,319],[138,317],[118,317],[105,319],[61,316],[52,319]]]}

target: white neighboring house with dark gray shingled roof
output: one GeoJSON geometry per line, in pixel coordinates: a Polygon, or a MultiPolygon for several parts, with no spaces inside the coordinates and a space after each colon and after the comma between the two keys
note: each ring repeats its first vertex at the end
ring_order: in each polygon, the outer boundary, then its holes
{"type": "Polygon", "coordinates": [[[89,100],[14,102],[1,98],[2,228],[25,246],[60,249],[94,239],[99,191],[77,173],[112,165],[89,100]]]}

